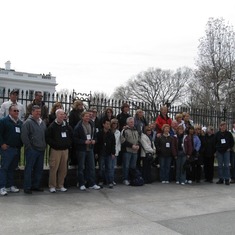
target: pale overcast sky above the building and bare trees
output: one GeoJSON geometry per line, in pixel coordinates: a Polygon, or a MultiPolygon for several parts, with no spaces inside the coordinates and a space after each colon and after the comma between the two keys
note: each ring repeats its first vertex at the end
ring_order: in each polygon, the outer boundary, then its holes
{"type": "Polygon", "coordinates": [[[2,0],[0,67],[105,92],[149,67],[194,68],[209,17],[235,27],[235,1],[2,0]]]}

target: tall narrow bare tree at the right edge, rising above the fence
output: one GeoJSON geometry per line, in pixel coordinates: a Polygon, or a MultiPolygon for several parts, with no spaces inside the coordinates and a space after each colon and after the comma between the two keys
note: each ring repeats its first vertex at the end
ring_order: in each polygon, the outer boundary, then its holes
{"type": "Polygon", "coordinates": [[[195,95],[201,104],[217,111],[229,106],[235,88],[235,33],[224,19],[209,19],[196,65],[200,90],[195,89],[195,95]]]}

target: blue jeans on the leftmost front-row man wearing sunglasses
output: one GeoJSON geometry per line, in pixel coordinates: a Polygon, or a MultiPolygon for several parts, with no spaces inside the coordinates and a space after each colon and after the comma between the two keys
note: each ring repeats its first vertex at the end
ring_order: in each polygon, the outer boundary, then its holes
{"type": "Polygon", "coordinates": [[[14,186],[14,171],[18,166],[20,149],[1,149],[0,188],[14,186]]]}

